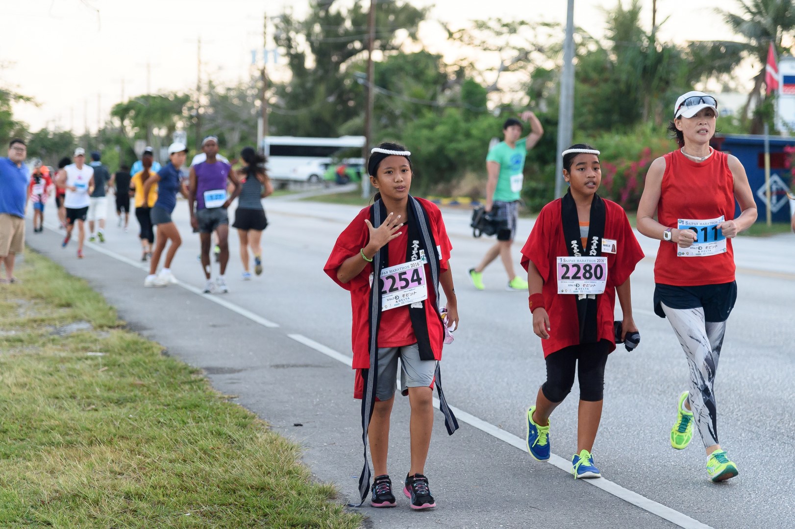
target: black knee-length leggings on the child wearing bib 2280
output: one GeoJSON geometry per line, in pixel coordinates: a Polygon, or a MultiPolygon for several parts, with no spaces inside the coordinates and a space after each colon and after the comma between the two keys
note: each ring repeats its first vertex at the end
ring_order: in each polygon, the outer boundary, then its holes
{"type": "Polygon", "coordinates": [[[574,385],[574,370],[580,380],[580,400],[597,402],[604,396],[604,366],[610,342],[601,340],[577,346],[568,346],[546,357],[547,380],[541,391],[550,402],[566,398],[574,385]]]}

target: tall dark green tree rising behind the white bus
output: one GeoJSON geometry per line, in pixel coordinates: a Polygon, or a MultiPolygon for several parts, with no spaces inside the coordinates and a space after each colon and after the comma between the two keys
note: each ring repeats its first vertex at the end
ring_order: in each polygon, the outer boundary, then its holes
{"type": "MultiPolygon", "coordinates": [[[[276,42],[286,52],[292,79],[276,87],[270,133],[326,137],[361,120],[364,98],[355,80],[367,48],[367,6],[349,8],[334,0],[310,2],[304,19],[286,13],[276,25],[276,42]]],[[[374,48],[383,56],[416,39],[427,10],[407,2],[383,2],[375,13],[374,48]]],[[[360,70],[364,71],[364,70],[360,70]]]]}

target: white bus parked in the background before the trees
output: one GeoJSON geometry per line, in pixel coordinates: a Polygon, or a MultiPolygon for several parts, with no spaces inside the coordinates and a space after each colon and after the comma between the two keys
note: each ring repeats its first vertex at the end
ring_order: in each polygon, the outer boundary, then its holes
{"type": "MultiPolygon", "coordinates": [[[[335,159],[350,158],[362,151],[363,136],[295,137],[269,136],[264,151],[268,157],[268,176],[273,180],[320,182],[335,159]]],[[[358,158],[357,161],[364,163],[358,158]]]]}

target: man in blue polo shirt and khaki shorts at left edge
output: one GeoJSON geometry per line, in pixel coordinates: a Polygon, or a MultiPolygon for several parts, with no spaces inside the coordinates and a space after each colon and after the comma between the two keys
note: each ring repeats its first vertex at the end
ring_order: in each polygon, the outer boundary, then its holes
{"type": "Polygon", "coordinates": [[[6,277],[0,283],[16,283],[14,259],[25,246],[25,191],[28,168],[22,162],[28,155],[24,141],[11,140],[8,158],[0,158],[0,264],[6,265],[6,277]]]}

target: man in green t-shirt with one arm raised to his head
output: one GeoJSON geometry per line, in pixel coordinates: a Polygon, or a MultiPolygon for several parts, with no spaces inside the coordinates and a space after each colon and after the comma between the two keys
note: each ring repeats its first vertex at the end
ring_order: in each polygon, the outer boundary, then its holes
{"type": "Polygon", "coordinates": [[[488,249],[483,261],[476,268],[469,270],[472,284],[483,290],[483,269],[491,261],[502,257],[502,264],[508,274],[508,290],[527,292],[527,281],[514,272],[514,261],[510,255],[510,246],[516,235],[519,199],[522,193],[525,170],[525,155],[541,139],[544,127],[529,110],[522,112],[522,121],[529,122],[530,133],[522,138],[522,122],[516,118],[508,118],[502,125],[504,141],[500,141],[489,150],[486,156],[486,168],[489,180],[486,184],[486,211],[498,224],[497,243],[488,249]]]}

